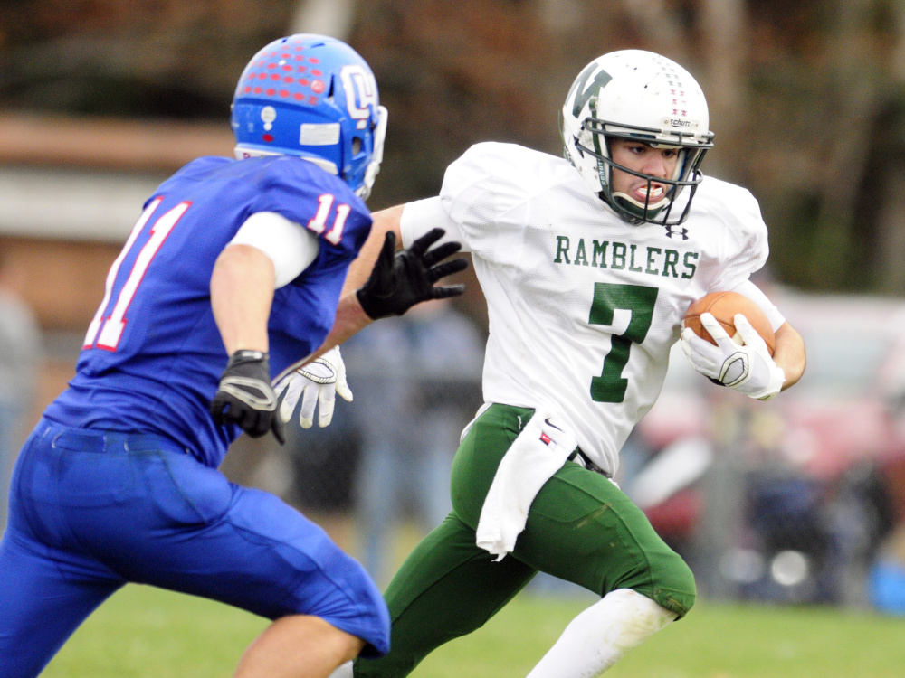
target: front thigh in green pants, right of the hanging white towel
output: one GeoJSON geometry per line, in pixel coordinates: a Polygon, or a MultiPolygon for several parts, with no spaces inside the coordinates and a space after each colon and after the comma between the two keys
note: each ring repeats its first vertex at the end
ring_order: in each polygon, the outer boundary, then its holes
{"type": "Polygon", "coordinates": [[[634,589],[680,617],[694,603],[691,570],[611,481],[567,462],[541,488],[513,554],[605,595],[634,589]]]}

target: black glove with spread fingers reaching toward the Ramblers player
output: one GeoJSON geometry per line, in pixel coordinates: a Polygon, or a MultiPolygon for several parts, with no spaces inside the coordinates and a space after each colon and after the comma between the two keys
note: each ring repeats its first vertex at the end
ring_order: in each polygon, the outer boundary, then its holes
{"type": "Polygon", "coordinates": [[[429,299],[458,297],[464,285],[433,287],[440,278],[468,268],[464,259],[439,263],[462,249],[458,242],[446,242],[427,249],[443,237],[443,229],[432,229],[412,243],[408,250],[395,251],[395,233],[388,231],[367,282],[357,291],[358,303],[372,320],[387,315],[403,315],[415,304],[429,299]]]}

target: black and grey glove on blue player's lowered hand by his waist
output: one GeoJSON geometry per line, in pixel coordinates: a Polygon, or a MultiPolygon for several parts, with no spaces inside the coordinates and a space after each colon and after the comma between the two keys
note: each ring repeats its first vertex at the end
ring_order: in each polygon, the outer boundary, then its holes
{"type": "Polygon", "coordinates": [[[267,353],[236,351],[220,377],[220,388],[211,400],[211,416],[218,424],[238,424],[252,438],[267,431],[286,442],[283,422],[277,415],[277,397],[271,388],[267,353]]]}

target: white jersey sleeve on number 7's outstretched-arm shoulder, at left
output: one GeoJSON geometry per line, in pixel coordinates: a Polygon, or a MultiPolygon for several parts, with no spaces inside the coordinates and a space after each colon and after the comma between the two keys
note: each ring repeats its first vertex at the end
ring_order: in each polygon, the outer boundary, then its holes
{"type": "Polygon", "coordinates": [[[443,209],[459,226],[463,245],[491,264],[518,261],[524,247],[532,165],[520,146],[483,143],[446,169],[443,209]]]}

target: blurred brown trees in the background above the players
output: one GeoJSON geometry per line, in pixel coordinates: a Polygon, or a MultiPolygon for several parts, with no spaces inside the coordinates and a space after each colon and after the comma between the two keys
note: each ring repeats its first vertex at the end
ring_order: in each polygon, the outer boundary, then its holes
{"type": "Polygon", "coordinates": [[[391,118],[375,208],[434,193],[476,141],[558,153],[581,67],[650,49],[705,90],[704,169],[759,198],[778,281],[901,294],[902,0],[6,0],[0,110],[225,126],[246,61],[299,31],[376,71],[391,118]]]}

